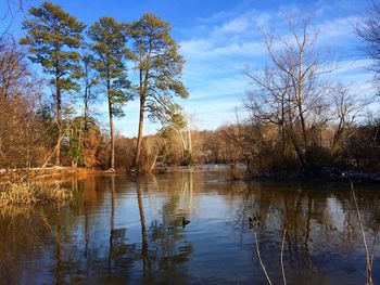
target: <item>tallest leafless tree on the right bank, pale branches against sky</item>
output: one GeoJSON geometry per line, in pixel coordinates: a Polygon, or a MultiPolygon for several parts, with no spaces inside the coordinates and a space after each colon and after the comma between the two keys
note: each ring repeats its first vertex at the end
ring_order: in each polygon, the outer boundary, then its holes
{"type": "Polygon", "coordinates": [[[254,86],[245,107],[251,118],[265,125],[278,126],[282,154],[287,143],[295,151],[303,167],[305,153],[312,146],[312,129],[327,120],[327,95],[330,82],[322,75],[330,73],[329,62],[322,62],[316,51],[318,34],[311,20],[288,20],[290,36],[264,35],[270,63],[264,73],[246,72],[254,86]]]}

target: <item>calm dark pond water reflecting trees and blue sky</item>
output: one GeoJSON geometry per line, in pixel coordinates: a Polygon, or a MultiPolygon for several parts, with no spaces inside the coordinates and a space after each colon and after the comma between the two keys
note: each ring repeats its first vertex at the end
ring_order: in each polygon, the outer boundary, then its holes
{"type": "MultiPolygon", "coordinates": [[[[346,185],[231,182],[223,172],[87,177],[69,205],[0,216],[0,284],[365,284],[365,251],[346,185]],[[182,228],[182,217],[191,223],[182,228]]],[[[380,192],[357,187],[369,247],[380,192]]],[[[379,243],[373,277],[380,282],[379,243]]]]}

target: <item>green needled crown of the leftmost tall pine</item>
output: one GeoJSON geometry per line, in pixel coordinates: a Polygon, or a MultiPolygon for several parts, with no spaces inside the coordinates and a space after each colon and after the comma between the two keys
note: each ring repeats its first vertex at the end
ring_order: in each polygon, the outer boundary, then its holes
{"type": "Polygon", "coordinates": [[[77,91],[83,76],[77,49],[83,44],[85,24],[51,2],[31,8],[29,14],[31,18],[23,22],[27,36],[20,40],[28,46],[29,59],[52,75],[56,89],[77,91]]]}

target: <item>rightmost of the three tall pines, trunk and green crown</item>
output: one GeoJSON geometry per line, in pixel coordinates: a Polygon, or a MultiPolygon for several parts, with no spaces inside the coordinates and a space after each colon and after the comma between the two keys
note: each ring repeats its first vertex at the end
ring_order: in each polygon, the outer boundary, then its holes
{"type": "Polygon", "coordinates": [[[180,81],[185,60],[178,54],[178,44],[170,37],[170,25],[153,14],[144,14],[130,25],[134,40],[132,59],[139,72],[138,93],[140,117],[135,164],[139,167],[142,148],[144,112],[151,118],[165,119],[174,107],[173,96],[188,96],[180,81]]]}

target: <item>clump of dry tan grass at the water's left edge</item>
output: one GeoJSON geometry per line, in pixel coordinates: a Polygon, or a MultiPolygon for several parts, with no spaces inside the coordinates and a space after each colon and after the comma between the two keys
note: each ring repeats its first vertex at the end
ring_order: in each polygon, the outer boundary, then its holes
{"type": "Polygon", "coordinates": [[[26,206],[42,202],[63,202],[71,199],[69,190],[59,185],[42,186],[35,182],[8,183],[0,191],[0,207],[26,206]]]}

